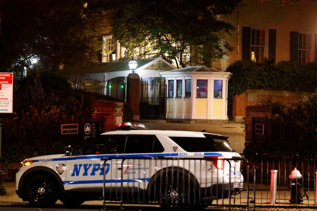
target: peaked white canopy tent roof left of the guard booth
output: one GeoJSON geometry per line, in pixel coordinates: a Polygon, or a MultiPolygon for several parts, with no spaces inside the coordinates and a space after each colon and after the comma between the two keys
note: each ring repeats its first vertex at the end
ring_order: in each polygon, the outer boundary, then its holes
{"type": "MultiPolygon", "coordinates": [[[[135,72],[141,78],[161,77],[159,72],[176,69],[176,67],[160,57],[136,59],[135,61],[138,62],[135,72]]],[[[128,76],[131,73],[128,63],[129,60],[94,64],[82,63],[65,67],[61,72],[68,76],[79,74],[80,81],[90,79],[107,81],[116,77],[128,76]]]]}

